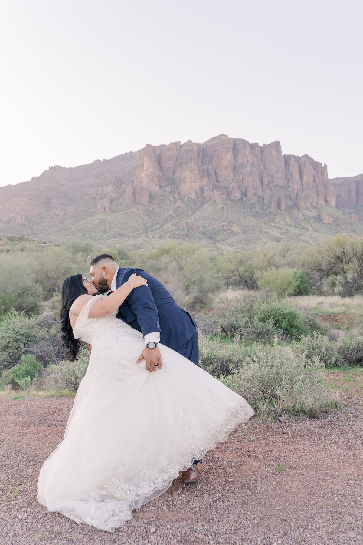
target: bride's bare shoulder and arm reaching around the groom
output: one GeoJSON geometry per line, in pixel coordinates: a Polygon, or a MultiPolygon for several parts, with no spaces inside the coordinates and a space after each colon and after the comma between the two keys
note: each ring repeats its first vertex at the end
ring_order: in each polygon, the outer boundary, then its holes
{"type": "MultiPolygon", "coordinates": [[[[126,297],[130,295],[132,290],[134,288],[138,288],[139,286],[147,286],[147,282],[145,278],[143,278],[142,276],[137,276],[136,272],[134,272],[134,274],[130,276],[128,281],[122,284],[122,286],[116,289],[113,293],[111,293],[104,299],[96,301],[93,307],[90,308],[88,317],[104,318],[106,316],[109,316],[116,310],[116,308],[119,308],[119,306],[125,301],[126,297]]],[[[77,316],[79,316],[82,308],[90,300],[91,297],[93,297],[93,295],[80,295],[75,300],[75,302],[73,302],[73,305],[70,309],[70,312],[72,313],[70,315],[71,323],[72,318],[75,319],[77,318],[77,316]]]]}

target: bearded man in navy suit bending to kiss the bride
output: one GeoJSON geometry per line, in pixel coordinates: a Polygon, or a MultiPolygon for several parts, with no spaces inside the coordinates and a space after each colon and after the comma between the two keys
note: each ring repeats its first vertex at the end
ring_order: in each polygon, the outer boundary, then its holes
{"type": "MultiPolygon", "coordinates": [[[[96,288],[104,293],[128,281],[137,272],[147,281],[147,286],[133,289],[120,305],[117,318],[131,325],[144,336],[145,348],[137,363],[146,361],[147,371],[161,369],[161,354],[158,343],[183,355],[195,365],[199,364],[199,345],[196,323],[190,314],[176,304],[167,288],[153,276],[141,269],[119,267],[113,257],[103,253],[91,261],[90,274],[96,288]]],[[[131,281],[132,283],[132,281],[131,281]]],[[[199,460],[191,468],[183,471],[183,482],[198,481],[199,460]]]]}

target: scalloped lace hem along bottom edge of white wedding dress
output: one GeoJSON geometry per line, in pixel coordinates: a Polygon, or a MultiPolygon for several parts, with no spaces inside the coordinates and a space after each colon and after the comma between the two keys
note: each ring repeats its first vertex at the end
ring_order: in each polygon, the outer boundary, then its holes
{"type": "Polygon", "coordinates": [[[179,476],[180,471],[188,469],[194,459],[202,459],[207,451],[213,450],[218,443],[225,441],[239,423],[249,420],[254,411],[244,405],[238,409],[235,408],[231,413],[223,426],[214,429],[206,443],[194,445],[194,447],[192,444],[180,445],[180,456],[171,464],[165,461],[163,473],[147,471],[146,468],[141,470],[145,480],[139,487],[113,477],[105,483],[106,486],[102,490],[99,490],[98,498],[72,501],[54,511],[74,520],[77,524],[89,524],[99,530],[114,532],[116,528],[121,528],[127,520],[132,518],[134,508],[139,509],[146,502],[163,494],[179,476]]]}

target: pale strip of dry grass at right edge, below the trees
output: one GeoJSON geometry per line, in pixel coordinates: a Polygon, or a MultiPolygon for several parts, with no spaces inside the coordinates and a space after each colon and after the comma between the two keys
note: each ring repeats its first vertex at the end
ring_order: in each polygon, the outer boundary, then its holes
{"type": "Polygon", "coordinates": [[[290,297],[299,308],[306,308],[315,314],[363,314],[363,295],[340,297],[339,295],[301,295],[290,297]]]}

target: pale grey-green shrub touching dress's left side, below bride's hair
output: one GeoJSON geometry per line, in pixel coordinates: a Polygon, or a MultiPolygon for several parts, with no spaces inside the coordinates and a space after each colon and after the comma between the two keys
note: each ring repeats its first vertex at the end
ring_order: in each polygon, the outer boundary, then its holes
{"type": "Polygon", "coordinates": [[[72,390],[76,392],[89,364],[90,352],[83,348],[77,360],[61,361],[50,364],[44,371],[44,388],[46,390],[72,390]]]}

